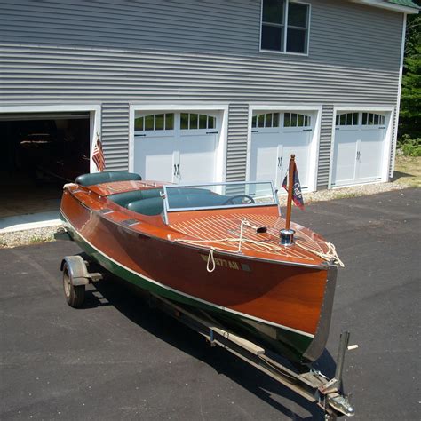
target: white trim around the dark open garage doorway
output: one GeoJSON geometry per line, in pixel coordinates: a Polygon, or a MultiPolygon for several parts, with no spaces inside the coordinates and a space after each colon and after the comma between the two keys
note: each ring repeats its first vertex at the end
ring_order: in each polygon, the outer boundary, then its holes
{"type": "MultiPolygon", "coordinates": [[[[98,172],[97,166],[92,161],[92,149],[101,131],[101,106],[100,104],[55,104],[55,105],[26,105],[26,106],[0,106],[0,113],[55,113],[71,111],[89,111],[90,114],[90,171],[98,172]]],[[[107,168],[106,168],[107,170],[107,168]]]]}

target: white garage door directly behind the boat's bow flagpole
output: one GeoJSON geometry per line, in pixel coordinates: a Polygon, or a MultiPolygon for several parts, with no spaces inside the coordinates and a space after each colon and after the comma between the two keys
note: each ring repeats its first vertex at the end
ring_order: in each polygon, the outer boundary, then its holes
{"type": "Polygon", "coordinates": [[[250,180],[272,180],[281,187],[290,155],[296,155],[303,189],[310,183],[310,145],[314,115],[305,113],[264,113],[253,115],[251,123],[250,180]]]}

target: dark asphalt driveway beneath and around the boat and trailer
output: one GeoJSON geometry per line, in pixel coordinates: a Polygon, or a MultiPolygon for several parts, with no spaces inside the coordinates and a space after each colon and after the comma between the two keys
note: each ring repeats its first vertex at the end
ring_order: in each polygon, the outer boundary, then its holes
{"type": "MultiPolygon", "coordinates": [[[[419,419],[420,201],[407,189],[294,209],[337,246],[327,351],[351,330],[344,383],[356,419],[419,419]]],[[[159,311],[122,283],[99,282],[86,306],[63,298],[73,242],[0,250],[0,418],[322,419],[322,412],[159,311]]]]}

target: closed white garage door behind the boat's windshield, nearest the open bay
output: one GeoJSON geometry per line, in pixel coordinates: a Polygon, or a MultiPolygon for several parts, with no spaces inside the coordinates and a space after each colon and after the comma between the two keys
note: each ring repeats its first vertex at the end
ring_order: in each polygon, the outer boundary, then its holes
{"type": "Polygon", "coordinates": [[[172,183],[214,181],[218,120],[204,112],[137,113],[134,171],[143,179],[172,183]]]}

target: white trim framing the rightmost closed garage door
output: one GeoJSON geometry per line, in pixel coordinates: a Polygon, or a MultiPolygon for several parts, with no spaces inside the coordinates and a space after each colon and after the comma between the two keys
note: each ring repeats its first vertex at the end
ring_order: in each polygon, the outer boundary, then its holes
{"type": "MultiPolygon", "coordinates": [[[[393,139],[393,121],[394,121],[394,107],[376,107],[376,106],[368,106],[368,107],[361,107],[361,106],[335,106],[333,107],[333,119],[332,119],[332,136],[331,136],[331,144],[330,144],[330,168],[329,168],[329,179],[328,179],[328,188],[341,188],[346,186],[338,186],[332,187],[332,176],[333,176],[333,155],[335,150],[335,135],[336,135],[336,119],[338,112],[346,111],[348,113],[353,112],[377,112],[377,113],[385,113],[385,144],[383,146],[383,168],[382,168],[382,176],[381,179],[378,180],[378,183],[384,183],[389,180],[389,163],[392,154],[392,139],[393,139]]],[[[354,127],[360,127],[361,124],[354,127]]],[[[373,182],[374,184],[374,182],[373,182]]],[[[358,186],[359,184],[350,185],[351,186],[358,186]]]]}

